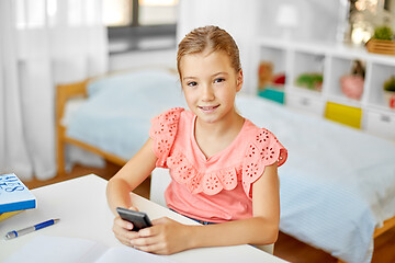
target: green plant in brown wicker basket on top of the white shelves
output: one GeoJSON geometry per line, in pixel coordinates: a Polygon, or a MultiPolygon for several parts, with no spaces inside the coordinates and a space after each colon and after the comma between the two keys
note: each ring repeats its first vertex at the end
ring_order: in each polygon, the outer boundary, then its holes
{"type": "Polygon", "coordinates": [[[370,53],[395,56],[394,33],[388,26],[379,26],[374,35],[366,42],[366,49],[370,53]]]}

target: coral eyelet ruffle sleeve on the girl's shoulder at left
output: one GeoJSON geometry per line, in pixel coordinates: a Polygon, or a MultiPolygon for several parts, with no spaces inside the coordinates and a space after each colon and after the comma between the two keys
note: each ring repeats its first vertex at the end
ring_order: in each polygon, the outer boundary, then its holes
{"type": "Polygon", "coordinates": [[[183,111],[182,107],[173,107],[151,119],[149,137],[154,140],[153,151],[158,158],[157,167],[167,168],[166,160],[174,142],[180,115],[183,111]]]}

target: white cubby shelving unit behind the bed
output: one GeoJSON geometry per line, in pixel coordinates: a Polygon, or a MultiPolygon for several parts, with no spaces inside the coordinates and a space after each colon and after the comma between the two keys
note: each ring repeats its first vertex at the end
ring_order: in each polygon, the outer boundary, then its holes
{"type": "MultiPolygon", "coordinates": [[[[325,116],[328,103],[357,108],[362,112],[361,129],[395,140],[395,110],[388,107],[383,92],[384,82],[395,76],[395,56],[370,54],[364,48],[270,38],[259,38],[255,54],[258,55],[253,56],[252,68],[258,69],[260,61],[271,61],[275,72],[285,73],[286,106],[321,117],[325,116]],[[340,87],[340,78],[351,72],[352,62],[357,59],[365,65],[360,100],[347,98],[340,87]],[[295,79],[303,72],[321,72],[321,90],[313,91],[295,85],[295,79]]],[[[258,83],[257,75],[251,78],[255,80],[252,83],[258,83]]]]}

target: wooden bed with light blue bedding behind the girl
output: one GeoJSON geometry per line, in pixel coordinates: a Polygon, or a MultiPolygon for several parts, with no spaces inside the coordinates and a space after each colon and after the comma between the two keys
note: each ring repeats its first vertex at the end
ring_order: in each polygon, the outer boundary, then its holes
{"type": "MultiPolygon", "coordinates": [[[[258,96],[236,104],[289,150],[279,169],[281,231],[339,261],[370,262],[374,239],[395,226],[395,145],[258,96]]],[[[173,106],[185,104],[177,75],[165,69],[58,85],[60,176],[66,144],[122,165],[147,139],[150,118],[173,106]],[[80,98],[74,106],[71,98],[80,98]]]]}

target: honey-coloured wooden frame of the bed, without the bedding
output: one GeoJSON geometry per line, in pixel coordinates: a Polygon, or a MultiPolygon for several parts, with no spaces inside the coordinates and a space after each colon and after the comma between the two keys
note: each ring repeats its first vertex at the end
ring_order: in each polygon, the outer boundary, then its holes
{"type": "MultiPolygon", "coordinates": [[[[113,153],[103,151],[97,147],[88,145],[86,142],[79,141],[77,139],[67,137],[66,127],[63,126],[61,119],[65,113],[65,105],[68,100],[75,98],[87,98],[87,85],[91,81],[91,79],[87,79],[81,82],[70,83],[70,84],[58,84],[56,89],[56,127],[57,127],[57,167],[58,167],[58,175],[65,176],[65,146],[66,144],[75,145],[90,152],[97,153],[101,156],[103,159],[113,162],[119,165],[124,165],[127,160],[120,158],[113,153]]],[[[395,227],[395,217],[390,218],[384,221],[383,227],[376,228],[373,238],[376,239],[387,230],[395,227]]],[[[338,260],[338,262],[343,262],[338,260]]]]}

